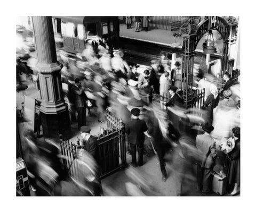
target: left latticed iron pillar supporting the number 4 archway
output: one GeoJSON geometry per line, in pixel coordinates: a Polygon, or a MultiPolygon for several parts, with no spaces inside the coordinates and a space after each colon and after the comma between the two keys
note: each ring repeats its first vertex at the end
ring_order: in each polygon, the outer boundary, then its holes
{"type": "Polygon", "coordinates": [[[181,90],[182,98],[186,108],[193,104],[193,69],[196,35],[181,35],[183,38],[182,46],[182,73],[181,90]]]}

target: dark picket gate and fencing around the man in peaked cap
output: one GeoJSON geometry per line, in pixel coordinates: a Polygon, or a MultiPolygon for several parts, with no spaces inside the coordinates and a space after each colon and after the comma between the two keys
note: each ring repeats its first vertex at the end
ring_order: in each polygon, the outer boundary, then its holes
{"type": "MultiPolygon", "coordinates": [[[[93,135],[98,141],[98,164],[101,170],[101,178],[126,166],[124,124],[109,109],[107,109],[106,115],[108,127],[106,129],[101,128],[101,132],[98,135],[93,135]]],[[[69,140],[63,140],[61,137],[60,146],[64,168],[67,174],[76,179],[79,168],[75,160],[77,157],[77,145],[69,140]]]]}

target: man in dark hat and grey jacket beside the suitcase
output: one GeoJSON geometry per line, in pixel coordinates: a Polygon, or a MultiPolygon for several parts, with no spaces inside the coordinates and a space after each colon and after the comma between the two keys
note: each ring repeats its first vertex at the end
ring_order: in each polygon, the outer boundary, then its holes
{"type": "Polygon", "coordinates": [[[197,190],[202,193],[209,193],[212,184],[212,169],[217,158],[216,143],[210,133],[213,126],[206,123],[203,126],[204,134],[197,135],[196,148],[201,156],[197,164],[197,190]]]}

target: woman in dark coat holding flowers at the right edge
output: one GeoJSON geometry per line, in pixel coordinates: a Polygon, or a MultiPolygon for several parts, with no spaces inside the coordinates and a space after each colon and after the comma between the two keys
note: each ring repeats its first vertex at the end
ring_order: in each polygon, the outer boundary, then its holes
{"type": "Polygon", "coordinates": [[[232,129],[235,140],[235,147],[228,153],[230,164],[228,167],[227,180],[229,185],[234,185],[234,189],[229,193],[229,196],[234,196],[238,193],[240,185],[240,128],[236,126],[232,129]]]}

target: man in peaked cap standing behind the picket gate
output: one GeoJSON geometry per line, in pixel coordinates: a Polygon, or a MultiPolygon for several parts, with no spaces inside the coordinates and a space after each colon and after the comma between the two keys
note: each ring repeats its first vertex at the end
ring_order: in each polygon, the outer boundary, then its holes
{"type": "Polygon", "coordinates": [[[91,128],[89,126],[81,126],[82,140],[79,141],[79,145],[89,152],[93,158],[98,162],[98,143],[91,134],[91,128]]]}

